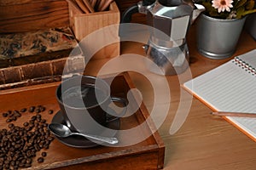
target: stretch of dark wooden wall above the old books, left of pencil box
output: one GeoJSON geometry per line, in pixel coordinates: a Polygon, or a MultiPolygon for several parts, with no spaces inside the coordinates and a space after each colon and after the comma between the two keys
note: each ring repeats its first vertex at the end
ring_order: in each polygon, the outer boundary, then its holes
{"type": "Polygon", "coordinates": [[[62,0],[0,5],[0,33],[69,26],[67,2],[62,0]]]}

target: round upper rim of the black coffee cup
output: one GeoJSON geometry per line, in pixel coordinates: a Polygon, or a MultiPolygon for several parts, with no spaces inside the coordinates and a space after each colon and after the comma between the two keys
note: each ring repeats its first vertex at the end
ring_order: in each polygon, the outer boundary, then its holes
{"type": "MultiPolygon", "coordinates": [[[[86,76],[86,75],[77,75],[77,76],[74,76],[74,77],[71,77],[71,78],[67,78],[66,80],[61,81],[61,83],[58,85],[58,87],[56,88],[56,91],[55,91],[56,99],[58,100],[58,102],[60,102],[62,105],[64,105],[64,107],[68,107],[68,108],[70,108],[70,109],[76,109],[76,110],[91,109],[91,108],[95,108],[95,107],[97,107],[97,106],[102,105],[102,103],[104,103],[104,102],[106,102],[106,101],[108,100],[108,95],[107,95],[107,97],[106,97],[105,99],[103,99],[101,102],[97,103],[96,105],[91,105],[91,106],[89,106],[89,107],[85,107],[85,105],[84,105],[84,107],[74,107],[74,106],[65,104],[65,103],[61,100],[61,96],[58,95],[58,91],[59,91],[60,89],[62,89],[62,88],[61,88],[61,87],[62,87],[62,84],[65,83],[65,82],[70,82],[70,81],[72,81],[72,80],[75,79],[75,78],[79,78],[80,80],[82,80],[83,77],[92,78],[92,79],[94,79],[94,80],[96,80],[96,79],[97,79],[97,80],[100,80],[100,81],[103,82],[107,87],[109,87],[109,86],[108,86],[108,83],[105,82],[104,80],[102,80],[102,78],[99,78],[99,77],[86,76]],[[80,77],[80,78],[79,78],[79,77],[80,77]]],[[[94,86],[95,84],[90,84],[90,85],[94,86]]],[[[95,86],[94,86],[94,87],[95,87],[95,86]]],[[[61,94],[62,94],[62,90],[61,90],[61,94]]]]}

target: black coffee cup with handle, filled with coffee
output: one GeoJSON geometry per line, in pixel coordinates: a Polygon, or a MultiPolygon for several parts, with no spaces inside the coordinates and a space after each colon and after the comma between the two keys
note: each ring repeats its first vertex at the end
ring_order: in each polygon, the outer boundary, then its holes
{"type": "Polygon", "coordinates": [[[126,100],[112,97],[108,83],[98,77],[68,78],[56,89],[56,98],[67,126],[80,133],[99,132],[126,112],[126,100]],[[124,108],[121,113],[112,111],[112,118],[108,119],[107,111],[112,102],[119,102],[124,108]]]}

